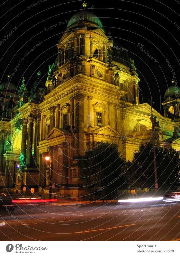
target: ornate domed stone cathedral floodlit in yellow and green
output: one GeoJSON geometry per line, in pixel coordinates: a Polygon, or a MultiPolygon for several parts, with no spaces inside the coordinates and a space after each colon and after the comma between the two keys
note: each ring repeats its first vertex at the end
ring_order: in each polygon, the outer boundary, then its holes
{"type": "MultiPolygon", "coordinates": [[[[30,91],[24,78],[16,89],[10,75],[0,85],[1,188],[48,191],[49,154],[54,191],[77,198],[83,193],[78,189],[77,159],[96,142],[117,144],[121,156],[132,160],[140,144],[151,140],[151,106],[139,102],[134,60],[83,7],[58,41],[45,84],[39,71],[30,91]]],[[[152,110],[156,140],[176,150],[179,93],[174,84],[165,92],[164,116],[152,110]]]]}

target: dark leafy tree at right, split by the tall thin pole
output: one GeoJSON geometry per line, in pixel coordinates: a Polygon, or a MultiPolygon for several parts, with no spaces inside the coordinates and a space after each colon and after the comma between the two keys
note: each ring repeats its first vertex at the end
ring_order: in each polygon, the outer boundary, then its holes
{"type": "MultiPolygon", "coordinates": [[[[165,147],[155,147],[158,188],[173,188],[179,185],[179,152],[165,147]]],[[[155,187],[153,144],[141,144],[132,162],[127,162],[126,184],[141,188],[155,187]]]]}

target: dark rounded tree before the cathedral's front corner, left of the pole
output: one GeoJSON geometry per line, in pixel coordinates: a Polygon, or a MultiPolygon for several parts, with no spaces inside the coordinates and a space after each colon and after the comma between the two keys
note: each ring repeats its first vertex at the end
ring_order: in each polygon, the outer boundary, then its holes
{"type": "Polygon", "coordinates": [[[98,142],[78,161],[80,182],[86,192],[110,197],[124,182],[124,164],[117,145],[98,142]]]}

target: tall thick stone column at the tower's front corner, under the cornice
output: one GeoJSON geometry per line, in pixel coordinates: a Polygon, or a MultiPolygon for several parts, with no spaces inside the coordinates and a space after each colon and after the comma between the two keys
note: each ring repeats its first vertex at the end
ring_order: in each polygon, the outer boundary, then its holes
{"type": "Polygon", "coordinates": [[[79,93],[75,96],[76,100],[76,119],[75,119],[75,128],[76,128],[76,139],[75,139],[75,148],[76,156],[82,155],[84,150],[84,98],[85,95],[79,93]]]}

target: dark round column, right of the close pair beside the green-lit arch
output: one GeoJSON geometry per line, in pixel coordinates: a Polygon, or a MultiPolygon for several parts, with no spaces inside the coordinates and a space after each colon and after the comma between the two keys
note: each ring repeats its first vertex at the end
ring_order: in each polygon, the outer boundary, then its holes
{"type": "Polygon", "coordinates": [[[32,166],[33,165],[33,156],[32,156],[33,121],[34,121],[34,116],[29,115],[29,117],[28,117],[29,126],[28,126],[26,166],[32,166]]]}

